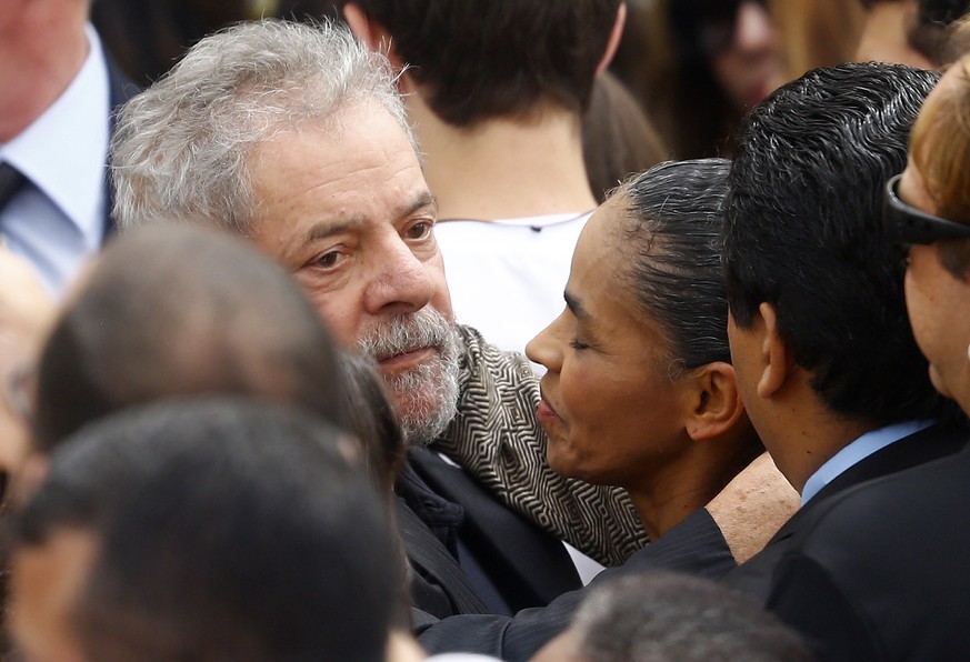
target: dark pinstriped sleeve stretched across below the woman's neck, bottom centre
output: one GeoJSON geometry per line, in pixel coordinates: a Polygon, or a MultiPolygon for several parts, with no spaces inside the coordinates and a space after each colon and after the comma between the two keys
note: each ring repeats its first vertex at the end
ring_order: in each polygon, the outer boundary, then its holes
{"type": "Polygon", "coordinates": [[[586,589],[560,595],[548,606],[528,609],[513,618],[462,615],[418,628],[418,641],[429,653],[461,651],[516,662],[530,659],[566,630],[573,611],[593,586],[650,570],[686,572],[718,579],[736,568],[734,559],[711,516],[703,509],[663,538],[636,552],[621,566],[608,568],[586,589]]]}

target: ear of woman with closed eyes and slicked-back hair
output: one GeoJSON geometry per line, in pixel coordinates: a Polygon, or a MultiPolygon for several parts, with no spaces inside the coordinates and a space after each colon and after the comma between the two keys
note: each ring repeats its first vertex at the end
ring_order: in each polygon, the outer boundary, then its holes
{"type": "Polygon", "coordinates": [[[734,379],[734,367],[723,361],[697,369],[693,382],[693,411],[687,420],[687,433],[694,441],[724,434],[744,415],[744,405],[734,379]]]}

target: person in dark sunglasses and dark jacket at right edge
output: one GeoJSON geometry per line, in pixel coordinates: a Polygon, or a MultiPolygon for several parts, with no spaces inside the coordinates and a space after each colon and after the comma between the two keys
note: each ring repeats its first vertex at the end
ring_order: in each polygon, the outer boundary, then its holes
{"type": "MultiPolygon", "coordinates": [[[[970,26],[960,27],[966,38],[970,26]]],[[[960,34],[962,32],[963,34],[960,34]]],[[[907,255],[906,297],[936,388],[970,411],[970,60],[920,110],[906,170],[886,184],[886,235],[907,255]]],[[[970,451],[847,490],[799,532],[768,606],[818,660],[970,655],[970,451]]]]}

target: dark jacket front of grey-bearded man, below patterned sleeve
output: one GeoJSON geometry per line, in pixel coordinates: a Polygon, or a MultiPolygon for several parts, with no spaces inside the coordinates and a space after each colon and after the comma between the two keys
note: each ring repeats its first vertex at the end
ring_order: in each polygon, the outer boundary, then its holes
{"type": "Polygon", "coordinates": [[[561,542],[467,472],[427,449],[412,449],[408,460],[397,484],[398,523],[413,606],[439,619],[512,613],[582,585],[561,542]],[[501,606],[490,603],[491,591],[501,606]]]}

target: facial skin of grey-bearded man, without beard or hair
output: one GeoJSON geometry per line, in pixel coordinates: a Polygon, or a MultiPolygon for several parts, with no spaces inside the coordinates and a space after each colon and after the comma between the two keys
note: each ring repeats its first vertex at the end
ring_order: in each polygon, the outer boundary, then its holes
{"type": "MultiPolygon", "coordinates": [[[[258,149],[251,174],[251,238],[296,274],[338,342],[353,347],[382,322],[426,308],[452,319],[436,202],[388,112],[351,108],[328,127],[279,136],[258,149]]],[[[379,368],[387,380],[438,361],[440,348],[417,348],[379,368]]],[[[397,410],[433,399],[426,385],[392,392],[397,410]]]]}

